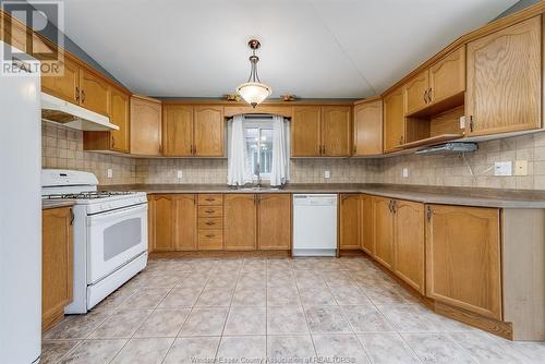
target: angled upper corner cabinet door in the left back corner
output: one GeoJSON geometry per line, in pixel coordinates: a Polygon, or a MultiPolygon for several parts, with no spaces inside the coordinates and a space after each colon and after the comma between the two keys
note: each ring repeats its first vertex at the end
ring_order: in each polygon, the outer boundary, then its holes
{"type": "Polygon", "coordinates": [[[148,97],[131,97],[131,154],[161,155],[161,102],[148,97]]]}

